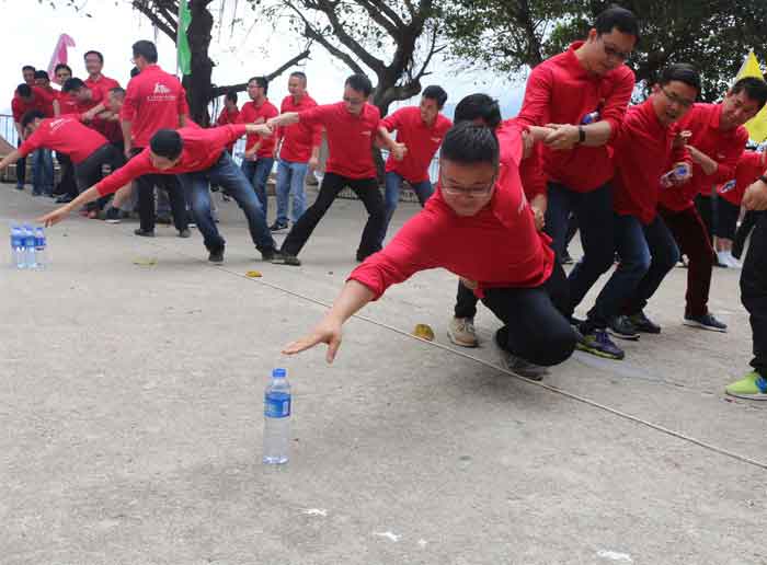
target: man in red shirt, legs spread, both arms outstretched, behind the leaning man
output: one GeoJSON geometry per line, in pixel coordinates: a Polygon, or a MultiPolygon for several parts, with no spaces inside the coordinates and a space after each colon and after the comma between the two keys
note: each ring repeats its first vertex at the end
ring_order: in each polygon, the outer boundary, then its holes
{"type": "Polygon", "coordinates": [[[380,131],[380,112],[367,102],[373,92],[370,79],[364,74],[352,74],[344,83],[343,102],[324,104],[288,112],[267,122],[271,128],[301,123],[309,127],[321,125],[328,135],[330,157],[320,194],[304,216],[293,224],[276,261],[286,265],[300,265],[298,253],[314,231],[314,228],[335,200],[339,193],[348,186],[354,191],[369,217],[357,247],[357,261],[380,250],[379,235],[384,226],[384,200],[376,178],[373,162],[373,143],[377,137],[401,159],[404,147],[397,143],[386,131],[380,131]]]}

